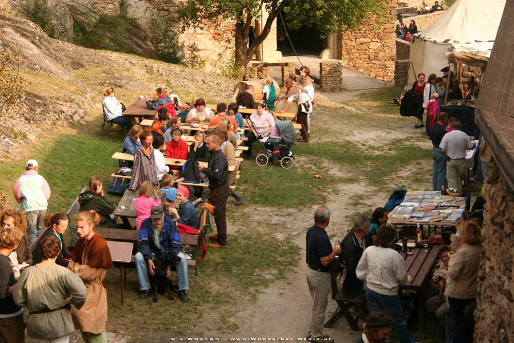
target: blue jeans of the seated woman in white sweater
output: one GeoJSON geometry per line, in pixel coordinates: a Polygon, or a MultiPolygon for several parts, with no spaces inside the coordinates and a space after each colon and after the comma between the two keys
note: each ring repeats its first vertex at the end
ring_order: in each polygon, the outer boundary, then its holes
{"type": "Polygon", "coordinates": [[[407,322],[403,318],[400,297],[398,295],[384,295],[366,290],[366,300],[370,306],[370,313],[386,310],[393,319],[393,328],[400,343],[413,343],[414,338],[407,331],[407,322]]]}

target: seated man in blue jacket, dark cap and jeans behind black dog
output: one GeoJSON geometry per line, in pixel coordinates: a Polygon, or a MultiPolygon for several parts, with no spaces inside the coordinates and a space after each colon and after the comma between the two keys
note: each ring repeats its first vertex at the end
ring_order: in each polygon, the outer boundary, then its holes
{"type": "MultiPolygon", "coordinates": [[[[135,256],[137,277],[139,279],[139,299],[146,299],[151,295],[151,286],[148,273],[154,275],[154,259],[163,251],[171,250],[180,257],[180,262],[175,265],[178,279],[178,298],[187,302],[189,298],[186,291],[189,290],[188,265],[186,256],[180,252],[180,234],[177,223],[164,215],[162,207],[152,207],[150,218],[141,223],[139,230],[139,252],[135,256]]],[[[168,266],[167,276],[171,273],[171,265],[168,266]]]]}

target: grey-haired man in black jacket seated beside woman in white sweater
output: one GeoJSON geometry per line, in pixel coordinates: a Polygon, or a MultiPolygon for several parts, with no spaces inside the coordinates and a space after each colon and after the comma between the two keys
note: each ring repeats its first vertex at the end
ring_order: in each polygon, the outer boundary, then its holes
{"type": "Polygon", "coordinates": [[[363,281],[357,278],[355,269],[359,263],[362,252],[366,249],[364,237],[370,231],[370,220],[365,216],[358,216],[352,227],[352,233],[344,242],[341,242],[341,255],[346,265],[346,277],[343,281],[343,288],[350,291],[362,291],[363,281]]]}

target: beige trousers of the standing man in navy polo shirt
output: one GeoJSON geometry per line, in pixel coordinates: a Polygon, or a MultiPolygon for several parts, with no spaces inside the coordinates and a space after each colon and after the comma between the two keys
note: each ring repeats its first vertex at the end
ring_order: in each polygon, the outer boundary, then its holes
{"type": "Polygon", "coordinates": [[[310,296],[313,298],[313,308],[310,313],[307,332],[311,337],[320,338],[323,336],[328,292],[331,289],[330,273],[307,269],[307,286],[309,287],[310,296]]]}

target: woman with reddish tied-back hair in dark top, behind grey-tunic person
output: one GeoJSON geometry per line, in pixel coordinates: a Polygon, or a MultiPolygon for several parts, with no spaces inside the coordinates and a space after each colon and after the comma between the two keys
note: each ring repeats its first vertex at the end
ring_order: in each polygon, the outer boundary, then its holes
{"type": "Polygon", "coordinates": [[[34,264],[43,261],[43,257],[39,251],[40,242],[43,237],[54,236],[59,240],[61,248],[61,252],[57,256],[56,264],[67,267],[69,262],[69,255],[66,252],[66,244],[64,243],[63,235],[68,228],[68,217],[62,212],[56,213],[54,215],[47,214],[43,218],[43,224],[47,229],[43,231],[41,237],[38,237],[38,239],[35,240],[35,244],[33,245],[34,248],[32,249],[32,260],[34,261],[34,264]]]}

